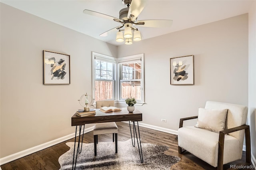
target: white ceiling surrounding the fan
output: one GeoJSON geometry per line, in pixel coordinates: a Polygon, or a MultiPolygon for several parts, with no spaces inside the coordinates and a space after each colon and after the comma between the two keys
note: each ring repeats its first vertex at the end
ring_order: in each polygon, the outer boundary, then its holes
{"type": "MultiPolygon", "coordinates": [[[[248,13],[253,0],[147,0],[138,20],[173,20],[170,28],[137,27],[142,39],[191,28],[248,13]]],[[[115,18],[125,6],[122,0],[0,0],[30,14],[92,36],[114,45],[116,34],[99,36],[121,26],[118,22],[90,16],[84,9],[93,10],[115,18]]],[[[135,42],[136,43],[136,42],[135,42]]]]}

